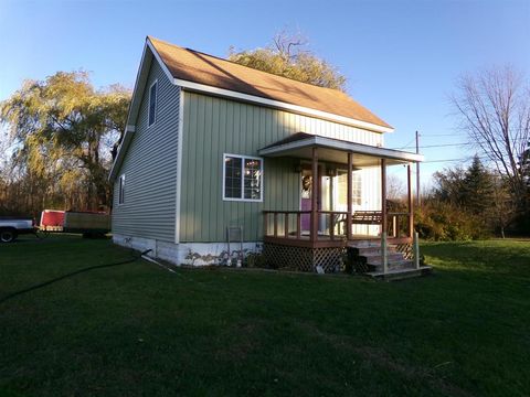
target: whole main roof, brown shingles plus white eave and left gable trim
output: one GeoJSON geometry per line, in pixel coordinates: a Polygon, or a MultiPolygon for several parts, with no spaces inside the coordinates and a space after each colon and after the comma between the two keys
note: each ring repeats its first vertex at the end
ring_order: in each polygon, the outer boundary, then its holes
{"type": "Polygon", "coordinates": [[[340,90],[273,75],[148,36],[138,67],[123,141],[109,173],[110,181],[116,178],[135,132],[136,118],[153,60],[160,64],[173,84],[189,83],[190,89],[201,92],[204,90],[203,87],[212,87],[210,93],[213,95],[229,97],[235,97],[234,93],[241,93],[236,96],[240,100],[258,101],[266,106],[331,119],[377,132],[393,130],[391,126],[340,90]],[[263,100],[256,100],[259,98],[263,100]]]}

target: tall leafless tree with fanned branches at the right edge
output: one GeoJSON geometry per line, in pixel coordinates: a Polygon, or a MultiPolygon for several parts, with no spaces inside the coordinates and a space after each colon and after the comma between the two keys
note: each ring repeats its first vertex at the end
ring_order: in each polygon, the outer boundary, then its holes
{"type": "Polygon", "coordinates": [[[530,89],[512,67],[466,75],[451,97],[465,130],[504,175],[520,212],[528,211],[527,185],[520,159],[530,139],[530,89]]]}

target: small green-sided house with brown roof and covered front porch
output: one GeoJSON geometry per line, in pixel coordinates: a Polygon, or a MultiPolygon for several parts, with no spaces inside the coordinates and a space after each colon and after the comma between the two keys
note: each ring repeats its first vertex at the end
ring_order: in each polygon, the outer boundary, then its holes
{"type": "Polygon", "coordinates": [[[109,176],[114,242],[198,265],[226,261],[232,235],[244,253],[327,271],[383,232],[410,247],[423,157],[385,149],[392,131],[341,92],[148,36],[109,176]],[[410,200],[389,214],[394,164],[407,165],[410,200]]]}

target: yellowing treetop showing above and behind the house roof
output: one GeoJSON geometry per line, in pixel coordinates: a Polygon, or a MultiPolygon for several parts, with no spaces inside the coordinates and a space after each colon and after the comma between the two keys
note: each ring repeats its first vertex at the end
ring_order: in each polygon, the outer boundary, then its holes
{"type": "Polygon", "coordinates": [[[346,77],[337,67],[308,50],[307,43],[299,34],[282,32],[264,49],[235,51],[231,47],[229,60],[298,82],[344,92],[346,77]]]}

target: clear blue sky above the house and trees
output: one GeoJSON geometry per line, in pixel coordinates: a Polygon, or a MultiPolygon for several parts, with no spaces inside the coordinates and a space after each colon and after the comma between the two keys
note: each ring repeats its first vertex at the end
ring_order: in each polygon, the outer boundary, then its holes
{"type": "Polygon", "coordinates": [[[420,130],[435,170],[473,155],[447,96],[462,73],[511,64],[530,74],[530,1],[6,1],[0,0],[0,100],[24,78],[86,69],[96,86],[132,87],[145,36],[225,56],[300,31],[337,65],[349,93],[395,127],[389,148],[420,130]],[[441,147],[441,144],[444,144],[441,147]],[[434,162],[433,162],[434,161],[434,162]]]}

